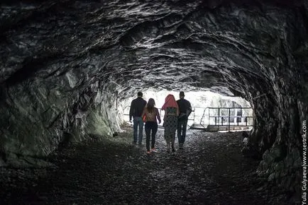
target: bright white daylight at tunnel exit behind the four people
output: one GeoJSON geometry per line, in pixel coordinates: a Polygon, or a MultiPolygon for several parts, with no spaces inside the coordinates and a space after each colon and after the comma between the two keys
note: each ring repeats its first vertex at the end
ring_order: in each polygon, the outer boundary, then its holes
{"type": "MultiPolygon", "coordinates": [[[[142,90],[141,90],[142,91],[142,90]]],[[[169,94],[175,96],[175,100],[179,100],[180,92],[169,91],[169,90],[146,90],[143,92],[143,99],[148,101],[150,98],[155,100],[155,107],[159,110],[163,107],[165,102],[165,97],[169,94]]],[[[124,108],[124,121],[128,122],[129,119],[129,106],[131,105],[131,100],[137,98],[133,96],[133,98],[126,99],[124,108]]],[[[189,100],[192,105],[192,114],[189,116],[189,121],[187,125],[193,126],[194,124],[204,124],[207,126],[209,124],[219,124],[220,126],[226,126],[229,122],[233,125],[253,125],[253,110],[252,109],[232,109],[226,110],[222,107],[251,107],[250,103],[240,97],[232,97],[226,95],[220,95],[219,93],[213,93],[211,91],[193,91],[193,92],[185,92],[185,99],[189,100]],[[218,109],[209,109],[209,107],[221,107],[218,109]],[[219,111],[219,114],[218,114],[219,111]],[[230,113],[229,113],[230,112],[230,113]],[[222,116],[231,116],[222,117],[222,116]],[[219,116],[219,117],[218,117],[219,116]],[[242,117],[238,117],[242,116],[242,117]],[[246,118],[247,117],[247,118],[246,118]]],[[[160,111],[160,117],[162,119],[163,124],[163,116],[165,112],[160,111]]]]}

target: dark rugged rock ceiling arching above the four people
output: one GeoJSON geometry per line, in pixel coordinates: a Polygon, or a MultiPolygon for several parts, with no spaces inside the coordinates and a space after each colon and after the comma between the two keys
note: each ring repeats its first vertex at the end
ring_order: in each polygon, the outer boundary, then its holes
{"type": "Polygon", "coordinates": [[[288,61],[285,52],[307,51],[307,7],[279,2],[3,3],[0,83],[65,75],[57,81],[64,88],[112,82],[126,93],[211,88],[231,95],[229,88],[243,95],[250,81],[275,78],[271,68],[288,61]]]}

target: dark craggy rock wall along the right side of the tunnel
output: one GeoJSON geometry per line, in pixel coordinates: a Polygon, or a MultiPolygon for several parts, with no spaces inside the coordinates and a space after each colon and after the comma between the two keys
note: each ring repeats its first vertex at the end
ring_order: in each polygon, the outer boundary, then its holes
{"type": "MultiPolygon", "coordinates": [[[[292,47],[292,43],[288,42],[287,47],[292,47]]],[[[233,74],[226,81],[239,85],[233,93],[253,105],[254,127],[243,153],[261,159],[257,170],[260,177],[300,193],[302,123],[308,117],[307,71],[303,72],[307,60],[302,55],[295,56],[294,51],[286,59],[283,45],[275,54],[277,59],[268,61],[264,67],[263,72],[268,72],[269,78],[233,74]]]]}

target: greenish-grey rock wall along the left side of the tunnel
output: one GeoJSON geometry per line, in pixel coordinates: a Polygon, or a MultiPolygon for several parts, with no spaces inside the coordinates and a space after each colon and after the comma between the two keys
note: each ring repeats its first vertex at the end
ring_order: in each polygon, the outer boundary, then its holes
{"type": "Polygon", "coordinates": [[[0,165],[45,166],[43,159],[57,148],[120,130],[116,88],[77,78],[65,73],[1,90],[0,165]]]}

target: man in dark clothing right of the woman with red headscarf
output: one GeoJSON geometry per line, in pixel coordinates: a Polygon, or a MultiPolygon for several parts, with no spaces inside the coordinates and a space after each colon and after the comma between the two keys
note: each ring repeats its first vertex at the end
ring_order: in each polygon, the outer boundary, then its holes
{"type": "Polygon", "coordinates": [[[183,148],[186,137],[187,121],[190,113],[192,112],[192,105],[188,100],[184,99],[184,92],[180,92],[180,100],[177,100],[180,115],[177,119],[177,139],[179,140],[179,148],[183,148]]]}

